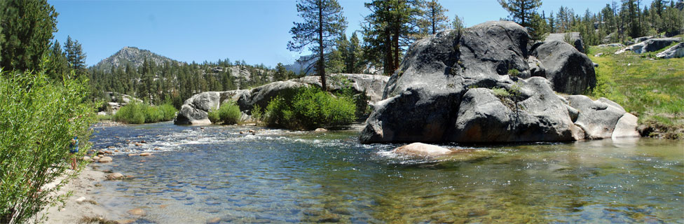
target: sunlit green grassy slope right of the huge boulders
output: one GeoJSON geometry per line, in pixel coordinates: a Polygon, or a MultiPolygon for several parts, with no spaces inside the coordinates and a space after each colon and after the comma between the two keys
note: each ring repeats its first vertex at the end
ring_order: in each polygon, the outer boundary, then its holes
{"type": "Polygon", "coordinates": [[[622,105],[627,112],[639,116],[641,125],[652,127],[650,134],[656,137],[681,138],[684,58],[649,59],[629,51],[615,55],[618,49],[589,50],[589,59],[599,64],[591,97],[606,97],[622,105]],[[599,52],[603,55],[594,57],[599,52]]]}

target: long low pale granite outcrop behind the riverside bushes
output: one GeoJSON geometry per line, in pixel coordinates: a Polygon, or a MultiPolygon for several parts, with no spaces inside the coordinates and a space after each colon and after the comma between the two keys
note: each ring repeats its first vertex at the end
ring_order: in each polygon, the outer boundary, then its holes
{"type": "MultiPolygon", "coordinates": [[[[351,87],[358,94],[366,94],[372,104],[381,99],[383,88],[387,84],[389,77],[364,74],[333,74],[328,79],[328,90],[336,91],[344,87],[351,87]]],[[[296,88],[307,85],[320,87],[320,83],[319,76],[306,76],[268,83],[255,87],[252,90],[201,92],[184,102],[174,123],[177,125],[211,124],[207,117],[208,111],[216,109],[228,101],[237,102],[238,106],[240,106],[240,111],[250,113],[249,111],[255,105],[265,109],[273,97],[289,94],[289,92],[296,90],[296,88]]]]}

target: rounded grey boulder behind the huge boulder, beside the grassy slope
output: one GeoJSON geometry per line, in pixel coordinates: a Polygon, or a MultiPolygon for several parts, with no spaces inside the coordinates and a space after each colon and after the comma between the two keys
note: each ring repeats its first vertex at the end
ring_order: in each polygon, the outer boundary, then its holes
{"type": "Polygon", "coordinates": [[[534,55],[545,69],[556,92],[582,94],[596,87],[596,72],[591,59],[561,41],[544,42],[534,48],[534,55]]]}

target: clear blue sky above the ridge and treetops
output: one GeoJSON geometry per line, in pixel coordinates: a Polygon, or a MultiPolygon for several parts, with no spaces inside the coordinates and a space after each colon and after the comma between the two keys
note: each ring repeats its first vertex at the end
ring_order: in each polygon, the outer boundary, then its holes
{"type": "MultiPolygon", "coordinates": [[[[361,0],[338,0],[349,27],[360,29],[369,10],[361,0]]],[[[542,1],[549,13],[562,6],[575,13],[598,12],[609,0],[542,1]]],[[[65,1],[49,0],[60,15],[55,38],[78,40],[93,65],[125,46],[151,50],[182,62],[229,58],[248,64],[291,64],[299,52],[287,50],[292,22],[300,21],[294,0],[226,1],[65,1]]],[[[470,27],[508,14],[496,0],[442,0],[449,18],[458,14],[470,27]]],[[[650,4],[650,1],[648,1],[650,4]]],[[[306,54],[306,52],[304,52],[306,54]]]]}

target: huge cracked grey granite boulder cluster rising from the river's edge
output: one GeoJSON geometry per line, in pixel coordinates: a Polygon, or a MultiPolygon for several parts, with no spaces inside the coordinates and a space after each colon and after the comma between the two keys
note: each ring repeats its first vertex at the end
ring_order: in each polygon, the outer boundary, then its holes
{"type": "MultiPolygon", "coordinates": [[[[556,87],[578,92],[594,85],[591,61],[559,41],[536,45],[532,50],[536,56],[531,57],[528,38],[526,29],[514,22],[496,21],[464,29],[461,34],[449,30],[416,41],[390,77],[384,99],[366,121],[360,141],[467,143],[594,138],[577,124],[585,124],[584,117],[591,113],[571,106],[568,99],[556,94],[562,92],[556,87]],[[519,75],[509,74],[510,69],[519,70],[519,75]],[[565,83],[556,85],[554,77],[563,76],[565,83]]],[[[613,117],[593,116],[611,120],[605,122],[606,128],[615,130],[617,121],[613,123],[613,117]]],[[[629,131],[629,123],[624,123],[624,130],[629,131]]]]}

